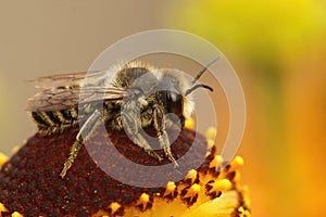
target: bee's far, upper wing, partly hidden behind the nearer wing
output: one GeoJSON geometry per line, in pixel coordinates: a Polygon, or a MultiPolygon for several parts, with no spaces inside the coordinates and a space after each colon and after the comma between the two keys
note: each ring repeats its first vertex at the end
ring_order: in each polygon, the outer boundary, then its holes
{"type": "Polygon", "coordinates": [[[95,72],[79,72],[68,73],[61,75],[51,75],[38,77],[29,82],[34,82],[36,88],[52,89],[66,86],[82,86],[80,82],[88,82],[90,80],[98,80],[100,77],[106,76],[106,79],[112,79],[113,74],[109,71],[95,71],[95,72]]]}

